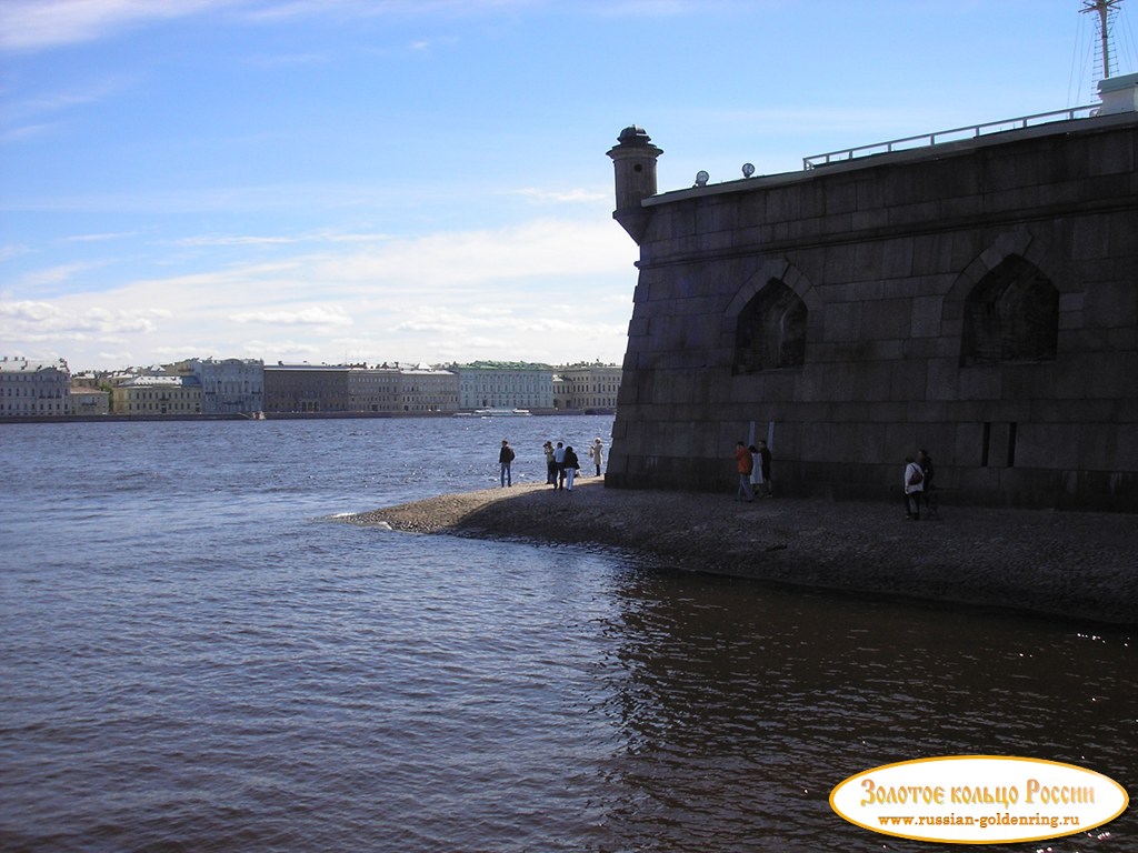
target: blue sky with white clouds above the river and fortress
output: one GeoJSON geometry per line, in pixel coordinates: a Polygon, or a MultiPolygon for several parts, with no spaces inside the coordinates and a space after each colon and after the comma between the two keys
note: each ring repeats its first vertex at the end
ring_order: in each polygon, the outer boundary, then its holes
{"type": "Polygon", "coordinates": [[[1081,8],[3,0],[0,355],[620,363],[621,129],[663,192],[1092,103],[1081,8]]]}

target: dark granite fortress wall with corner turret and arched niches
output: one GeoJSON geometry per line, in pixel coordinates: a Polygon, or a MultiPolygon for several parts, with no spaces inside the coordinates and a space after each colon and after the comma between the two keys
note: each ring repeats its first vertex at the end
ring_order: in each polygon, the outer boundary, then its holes
{"type": "Polygon", "coordinates": [[[608,485],[762,438],[782,495],[900,500],[924,447],[946,503],[1138,512],[1138,114],[663,194],[648,139],[608,485]]]}

